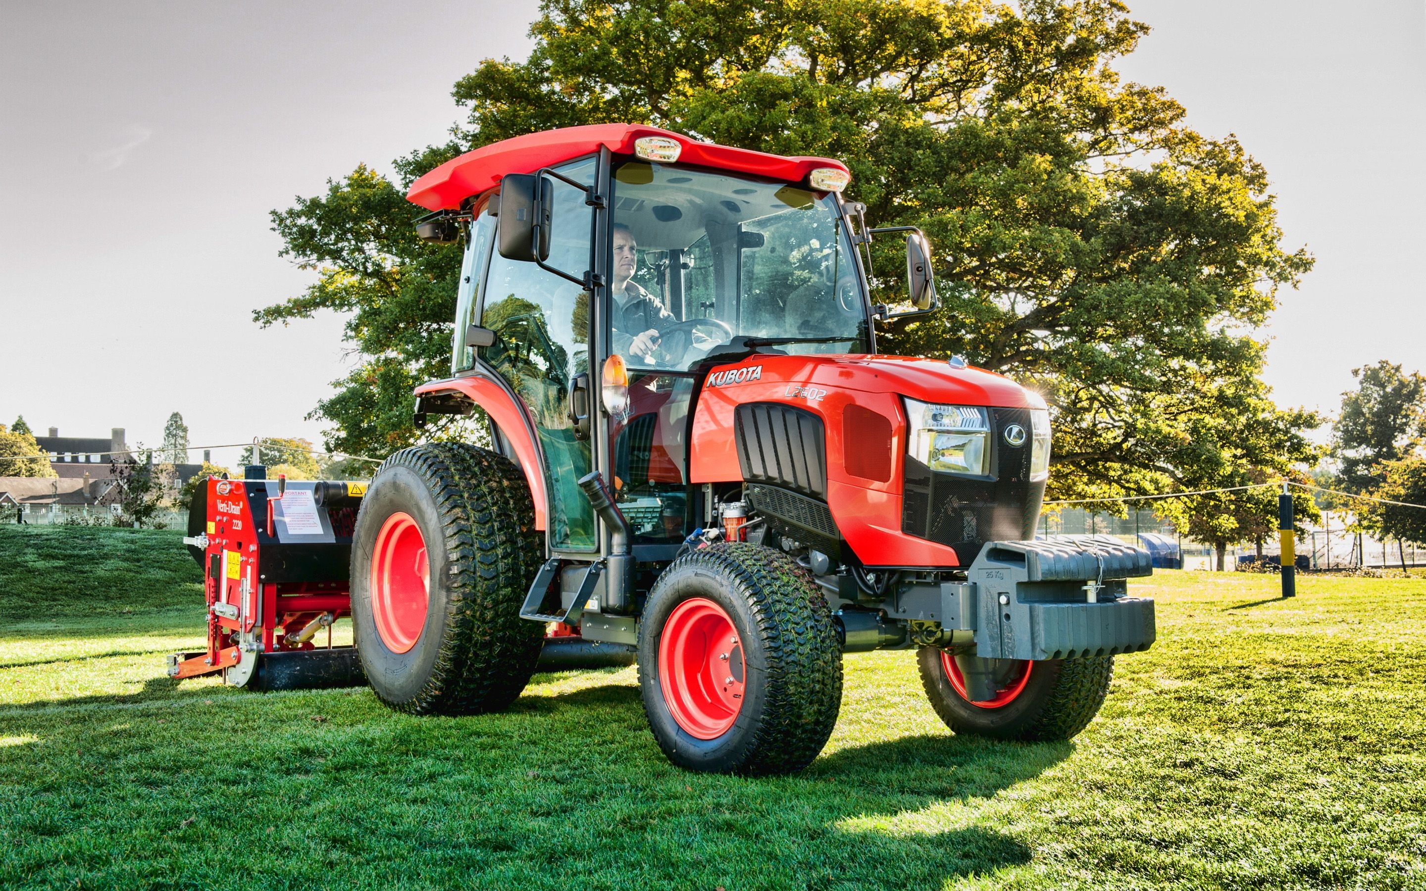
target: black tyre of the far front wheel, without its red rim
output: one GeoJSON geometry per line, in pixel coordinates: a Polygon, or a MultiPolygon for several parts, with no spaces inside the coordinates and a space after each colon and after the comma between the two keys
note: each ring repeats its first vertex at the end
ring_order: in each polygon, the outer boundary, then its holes
{"type": "Polygon", "coordinates": [[[1114,680],[1112,656],[1037,661],[1031,669],[1031,680],[1021,693],[1021,699],[1028,694],[1028,701],[1017,699],[1005,706],[1018,707],[1018,714],[1015,720],[997,727],[990,726],[990,721],[998,717],[998,709],[981,710],[971,706],[951,687],[945,669],[941,667],[941,650],[923,647],[917,653],[917,664],[921,670],[921,687],[947,727],[955,733],[1004,740],[1072,738],[1099,713],[1114,680]]]}

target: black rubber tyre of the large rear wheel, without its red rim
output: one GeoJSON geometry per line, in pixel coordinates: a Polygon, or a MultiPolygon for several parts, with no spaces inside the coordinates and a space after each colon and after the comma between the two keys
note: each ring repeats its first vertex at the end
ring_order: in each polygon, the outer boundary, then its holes
{"type": "MultiPolygon", "coordinates": [[[[545,636],[543,626],[519,617],[543,557],[529,485],[509,459],[453,442],[396,452],[376,470],[374,488],[391,468],[415,472],[435,500],[446,550],[445,622],[435,663],[415,696],[396,700],[372,689],[408,714],[501,711],[529,683],[545,636]]],[[[358,515],[358,526],[361,520],[358,515]]],[[[352,555],[355,563],[355,547],[352,555]]],[[[354,579],[358,572],[369,566],[354,566],[354,579]]]]}

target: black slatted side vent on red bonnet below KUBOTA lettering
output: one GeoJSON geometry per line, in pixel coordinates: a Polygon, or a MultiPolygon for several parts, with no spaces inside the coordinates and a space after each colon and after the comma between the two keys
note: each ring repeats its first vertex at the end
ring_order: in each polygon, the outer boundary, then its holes
{"type": "Polygon", "coordinates": [[[744,480],[827,500],[827,435],[821,418],[779,402],[747,402],[737,406],[733,418],[744,480]]]}

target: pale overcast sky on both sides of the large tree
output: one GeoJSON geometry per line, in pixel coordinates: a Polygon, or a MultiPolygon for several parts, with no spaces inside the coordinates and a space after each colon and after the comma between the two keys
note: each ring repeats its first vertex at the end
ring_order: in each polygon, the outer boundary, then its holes
{"type": "MultiPolygon", "coordinates": [[[[1318,258],[1266,331],[1278,399],[1426,369],[1422,1],[1129,6],[1154,33],[1121,70],[1236,133],[1318,258]]],[[[319,441],[341,321],[251,322],[308,281],[267,212],[442,141],[451,86],[523,57],[535,7],[0,0],[0,421],[157,443],[180,411],[194,445],[319,441]]]]}

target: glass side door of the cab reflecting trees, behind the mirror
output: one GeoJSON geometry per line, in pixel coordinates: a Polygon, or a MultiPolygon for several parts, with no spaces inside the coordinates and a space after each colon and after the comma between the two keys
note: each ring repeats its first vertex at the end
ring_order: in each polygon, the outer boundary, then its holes
{"type": "MultiPolygon", "coordinates": [[[[595,158],[558,168],[578,182],[593,184],[595,158]]],[[[553,180],[550,257],[548,265],[585,269],[590,258],[590,212],[585,192],[553,180]]],[[[590,439],[570,416],[570,383],[590,371],[589,295],[533,262],[491,252],[481,307],[481,325],[496,334],[481,358],[525,402],[539,436],[549,492],[550,550],[599,549],[595,513],[578,480],[593,469],[590,439]]]]}

